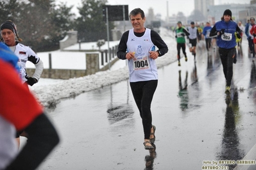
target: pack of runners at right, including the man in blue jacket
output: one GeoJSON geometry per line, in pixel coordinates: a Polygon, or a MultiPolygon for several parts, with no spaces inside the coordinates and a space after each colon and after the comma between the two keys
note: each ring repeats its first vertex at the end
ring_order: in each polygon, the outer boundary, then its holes
{"type": "Polygon", "coordinates": [[[215,50],[218,47],[219,56],[223,65],[223,73],[226,79],[226,93],[230,93],[231,81],[233,76],[233,63],[237,62],[237,49],[241,48],[243,34],[247,36],[248,49],[252,55],[252,61],[255,59],[256,51],[256,26],[255,18],[250,17],[247,23],[242,24],[241,21],[235,22],[232,19],[232,12],[225,10],[223,17],[218,22],[202,22],[201,24],[191,22],[190,26],[182,26],[182,22],[178,21],[177,26],[171,27],[176,38],[178,66],[180,62],[180,49],[182,49],[185,61],[188,60],[186,53],[186,43],[189,45],[189,51],[194,56],[196,62],[196,45],[201,41],[205,41],[205,49],[215,50]]]}

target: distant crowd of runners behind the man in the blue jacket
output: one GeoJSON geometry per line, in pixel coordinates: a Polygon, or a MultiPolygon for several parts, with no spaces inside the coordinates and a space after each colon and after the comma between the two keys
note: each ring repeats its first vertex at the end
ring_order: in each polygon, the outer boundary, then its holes
{"type": "MultiPolygon", "coordinates": [[[[185,52],[185,43],[189,45],[189,51],[192,53],[192,56],[194,56],[194,61],[196,62],[196,45],[201,42],[201,40],[205,41],[205,48],[207,51],[210,49],[216,49],[216,36],[209,36],[210,30],[214,26],[215,22],[191,22],[189,25],[182,25],[182,22],[178,21],[177,26],[172,26],[171,30],[175,34],[176,42],[177,42],[177,58],[178,58],[178,66],[180,66],[180,49],[182,49],[182,52],[185,57],[185,61],[187,61],[187,54],[185,52]],[[181,30],[182,29],[182,30],[181,30]],[[182,35],[181,35],[182,34],[182,35]],[[187,37],[187,38],[186,38],[187,37]],[[182,40],[181,40],[182,39],[182,40]],[[186,41],[187,39],[187,41],[186,41]]],[[[255,58],[255,43],[253,42],[253,39],[256,35],[256,26],[255,25],[255,18],[251,17],[250,20],[247,20],[245,24],[243,24],[241,21],[237,22],[237,26],[241,29],[241,33],[239,34],[239,38],[237,37],[237,33],[235,33],[235,40],[237,42],[236,48],[239,50],[241,47],[241,43],[243,41],[243,35],[246,35],[246,38],[248,40],[248,47],[250,50],[250,53],[252,54],[252,59],[254,61],[255,58]],[[253,36],[254,34],[254,36],[253,36]]]]}

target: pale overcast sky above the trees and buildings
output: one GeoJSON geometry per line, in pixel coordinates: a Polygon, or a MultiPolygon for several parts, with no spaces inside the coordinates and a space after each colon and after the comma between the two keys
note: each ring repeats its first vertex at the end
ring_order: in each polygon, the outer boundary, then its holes
{"type": "MultiPolygon", "coordinates": [[[[74,5],[73,12],[78,13],[75,6],[81,6],[81,0],[56,0],[56,2],[67,2],[68,6],[74,5]]],[[[134,8],[141,8],[145,13],[151,7],[155,14],[160,13],[162,19],[167,16],[167,2],[169,6],[169,16],[183,12],[185,16],[191,15],[194,10],[194,1],[192,0],[108,0],[109,5],[128,4],[129,12],[134,8]]],[[[228,4],[230,0],[215,0],[215,4],[228,4]]],[[[232,0],[232,3],[249,4],[250,0],[232,0]]]]}

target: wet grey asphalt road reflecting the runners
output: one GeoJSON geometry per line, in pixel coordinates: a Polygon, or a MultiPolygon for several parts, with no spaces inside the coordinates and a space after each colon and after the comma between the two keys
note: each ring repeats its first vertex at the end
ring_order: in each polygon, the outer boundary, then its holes
{"type": "Polygon", "coordinates": [[[186,51],[182,66],[158,69],[151,104],[155,151],[144,150],[139,111],[122,81],[62,100],[48,112],[62,142],[39,169],[183,170],[212,166],[203,160],[241,160],[256,144],[256,68],[246,38],[230,95],[218,52],[198,49],[194,63],[186,51]]]}

